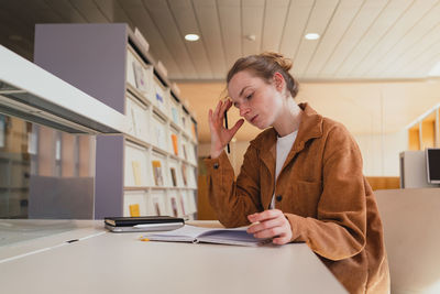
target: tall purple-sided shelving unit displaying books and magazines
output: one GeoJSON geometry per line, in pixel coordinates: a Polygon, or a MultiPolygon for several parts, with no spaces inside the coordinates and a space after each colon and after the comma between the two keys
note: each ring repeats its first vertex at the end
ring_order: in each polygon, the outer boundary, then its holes
{"type": "Polygon", "coordinates": [[[38,24],[34,56],[129,120],[123,135],[97,137],[95,218],[139,205],[141,215],[194,219],[197,122],[130,28],[38,24]]]}

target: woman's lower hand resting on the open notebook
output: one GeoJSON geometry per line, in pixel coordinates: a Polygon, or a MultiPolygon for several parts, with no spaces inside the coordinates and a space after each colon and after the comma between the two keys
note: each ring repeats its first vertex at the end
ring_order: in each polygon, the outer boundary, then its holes
{"type": "Polygon", "coordinates": [[[285,244],[292,239],[292,227],[282,210],[268,209],[248,216],[249,221],[254,222],[248,232],[255,238],[273,238],[274,244],[285,244]],[[256,222],[256,224],[255,224],[256,222]]]}

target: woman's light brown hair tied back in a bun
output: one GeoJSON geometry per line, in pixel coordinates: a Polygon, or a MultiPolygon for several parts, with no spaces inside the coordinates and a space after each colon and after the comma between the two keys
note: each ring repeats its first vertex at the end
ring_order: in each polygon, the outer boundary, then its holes
{"type": "Polygon", "coordinates": [[[261,77],[267,84],[270,84],[275,75],[279,73],[286,80],[287,90],[292,97],[296,97],[298,94],[298,81],[289,74],[293,63],[289,58],[283,56],[283,54],[276,52],[263,52],[257,55],[250,55],[246,57],[239,58],[234,65],[229,69],[227,76],[227,83],[231,78],[242,70],[249,70],[257,77],[261,77]]]}

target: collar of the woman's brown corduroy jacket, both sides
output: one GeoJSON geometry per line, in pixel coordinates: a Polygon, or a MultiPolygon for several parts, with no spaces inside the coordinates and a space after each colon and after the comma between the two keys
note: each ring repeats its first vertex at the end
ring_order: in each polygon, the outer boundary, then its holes
{"type": "MultiPolygon", "coordinates": [[[[322,135],[322,116],[318,115],[308,104],[299,104],[299,107],[302,109],[301,122],[299,123],[298,134],[285,164],[305,148],[307,141],[322,135]]],[[[261,160],[272,174],[275,174],[276,137],[275,129],[271,128],[260,145],[261,160]]]]}

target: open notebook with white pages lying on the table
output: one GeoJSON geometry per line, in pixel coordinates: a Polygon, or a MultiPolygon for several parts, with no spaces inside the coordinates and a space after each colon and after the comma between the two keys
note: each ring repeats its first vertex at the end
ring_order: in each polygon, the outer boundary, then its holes
{"type": "Polygon", "coordinates": [[[143,238],[151,241],[205,242],[252,247],[262,246],[272,241],[272,239],[256,239],[248,233],[246,229],[246,227],[237,229],[212,229],[185,225],[177,230],[148,233],[143,238]]]}

